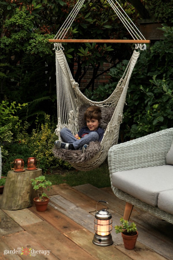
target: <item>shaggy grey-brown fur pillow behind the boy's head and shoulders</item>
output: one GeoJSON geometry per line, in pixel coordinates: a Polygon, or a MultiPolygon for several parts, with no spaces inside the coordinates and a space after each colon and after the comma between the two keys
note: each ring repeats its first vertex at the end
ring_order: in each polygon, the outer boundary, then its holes
{"type": "MultiPolygon", "coordinates": [[[[80,114],[78,117],[79,129],[86,126],[86,121],[84,120],[84,113],[88,107],[89,107],[89,105],[82,105],[79,108],[79,111],[80,111],[80,114]]],[[[99,121],[99,126],[102,129],[104,129],[104,131],[106,130],[106,127],[112,118],[114,110],[115,110],[115,107],[101,107],[101,119],[99,121]]]]}

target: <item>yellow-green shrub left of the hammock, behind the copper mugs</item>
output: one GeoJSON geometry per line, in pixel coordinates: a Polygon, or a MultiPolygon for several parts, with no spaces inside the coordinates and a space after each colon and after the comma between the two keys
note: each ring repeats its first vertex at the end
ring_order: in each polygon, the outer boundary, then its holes
{"type": "MultiPolygon", "coordinates": [[[[37,122],[36,122],[37,123],[37,122]]],[[[52,148],[57,136],[54,133],[54,124],[50,122],[50,116],[45,115],[45,122],[40,127],[36,124],[36,129],[33,129],[31,134],[27,133],[27,124],[22,133],[18,134],[16,140],[7,144],[5,148],[9,152],[9,156],[3,160],[2,173],[4,175],[10,170],[10,162],[14,159],[24,159],[25,167],[28,157],[36,157],[40,161],[42,171],[50,172],[58,166],[71,168],[72,166],[63,162],[61,159],[54,157],[52,148]]]]}

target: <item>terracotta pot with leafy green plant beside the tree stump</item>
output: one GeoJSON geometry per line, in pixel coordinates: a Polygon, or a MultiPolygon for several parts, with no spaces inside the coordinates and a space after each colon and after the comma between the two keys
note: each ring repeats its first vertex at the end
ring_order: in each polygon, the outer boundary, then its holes
{"type": "MultiPolygon", "coordinates": [[[[38,196],[34,198],[34,203],[37,211],[45,211],[47,209],[49,198],[46,194],[46,190],[52,186],[50,181],[46,181],[45,176],[39,176],[35,179],[31,179],[33,189],[37,191],[38,196]]],[[[51,187],[52,188],[52,187],[51,187]]]]}

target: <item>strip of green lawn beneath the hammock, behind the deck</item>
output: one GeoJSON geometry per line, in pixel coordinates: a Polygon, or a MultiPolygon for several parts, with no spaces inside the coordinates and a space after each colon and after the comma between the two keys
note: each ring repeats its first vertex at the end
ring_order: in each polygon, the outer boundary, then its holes
{"type": "Polygon", "coordinates": [[[53,185],[67,183],[70,186],[77,186],[86,183],[104,188],[110,187],[110,177],[107,162],[91,171],[67,170],[59,168],[52,174],[45,174],[46,179],[50,180],[53,185]]]}

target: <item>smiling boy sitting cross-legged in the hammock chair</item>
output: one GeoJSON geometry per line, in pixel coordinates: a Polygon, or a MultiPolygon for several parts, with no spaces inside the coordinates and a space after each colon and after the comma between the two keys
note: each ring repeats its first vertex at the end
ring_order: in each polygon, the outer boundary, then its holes
{"type": "Polygon", "coordinates": [[[54,142],[55,146],[57,148],[64,148],[68,150],[82,149],[83,153],[91,141],[101,142],[104,135],[104,130],[99,127],[100,118],[100,107],[88,107],[84,113],[86,127],[82,127],[75,136],[72,135],[68,128],[64,127],[60,131],[63,142],[57,140],[54,142]]]}

